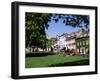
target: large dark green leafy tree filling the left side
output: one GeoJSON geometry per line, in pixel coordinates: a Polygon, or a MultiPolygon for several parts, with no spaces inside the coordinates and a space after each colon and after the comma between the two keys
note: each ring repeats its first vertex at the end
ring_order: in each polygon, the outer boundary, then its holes
{"type": "Polygon", "coordinates": [[[26,13],[25,16],[25,31],[26,31],[26,47],[44,48],[46,47],[46,33],[48,22],[51,15],[45,13],[26,13]]]}

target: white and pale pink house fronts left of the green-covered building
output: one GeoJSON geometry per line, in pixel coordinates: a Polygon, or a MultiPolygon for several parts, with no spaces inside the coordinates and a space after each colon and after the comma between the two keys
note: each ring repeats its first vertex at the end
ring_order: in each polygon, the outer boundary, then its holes
{"type": "Polygon", "coordinates": [[[63,33],[62,35],[57,37],[57,43],[54,46],[58,46],[59,49],[68,48],[68,49],[76,49],[75,46],[75,33],[63,33]]]}

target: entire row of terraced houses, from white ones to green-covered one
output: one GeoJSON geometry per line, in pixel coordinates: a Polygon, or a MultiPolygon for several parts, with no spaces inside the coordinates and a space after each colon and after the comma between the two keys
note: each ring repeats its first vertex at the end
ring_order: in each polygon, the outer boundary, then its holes
{"type": "Polygon", "coordinates": [[[63,33],[52,39],[52,47],[58,52],[66,48],[74,50],[79,54],[89,53],[89,32],[80,29],[77,32],[63,33]]]}

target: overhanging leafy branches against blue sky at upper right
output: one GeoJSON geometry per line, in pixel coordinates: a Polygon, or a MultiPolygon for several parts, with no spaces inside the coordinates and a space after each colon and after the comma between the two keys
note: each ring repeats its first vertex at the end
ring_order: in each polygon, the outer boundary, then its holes
{"type": "Polygon", "coordinates": [[[80,28],[83,27],[89,30],[89,15],[52,14],[52,16],[52,19],[55,22],[58,22],[60,19],[62,19],[65,25],[80,28]]]}

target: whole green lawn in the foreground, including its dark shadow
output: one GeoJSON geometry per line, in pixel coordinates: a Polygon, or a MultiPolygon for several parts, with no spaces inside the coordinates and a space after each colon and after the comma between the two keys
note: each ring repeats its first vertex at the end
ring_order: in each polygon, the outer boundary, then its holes
{"type": "Polygon", "coordinates": [[[73,66],[73,65],[88,65],[89,58],[86,56],[64,56],[58,55],[47,55],[41,57],[26,57],[25,67],[52,67],[52,66],[73,66]]]}

